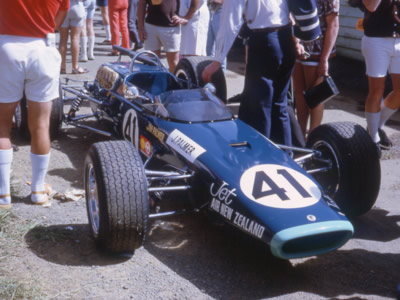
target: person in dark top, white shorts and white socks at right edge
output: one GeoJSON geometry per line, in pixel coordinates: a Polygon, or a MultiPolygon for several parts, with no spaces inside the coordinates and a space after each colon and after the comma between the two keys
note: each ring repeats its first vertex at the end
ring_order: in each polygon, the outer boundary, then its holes
{"type": "Polygon", "coordinates": [[[382,128],[400,107],[400,3],[363,0],[363,4],[365,13],[361,51],[365,58],[369,87],[365,117],[368,133],[381,154],[381,148],[389,149],[392,146],[382,128]],[[393,90],[382,102],[388,72],[393,90]]]}

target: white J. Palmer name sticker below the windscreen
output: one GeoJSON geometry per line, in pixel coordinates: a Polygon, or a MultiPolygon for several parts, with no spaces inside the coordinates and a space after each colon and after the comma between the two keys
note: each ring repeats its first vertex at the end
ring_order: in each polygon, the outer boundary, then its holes
{"type": "Polygon", "coordinates": [[[184,135],[178,129],[172,131],[168,136],[167,144],[192,163],[201,154],[206,152],[203,147],[201,147],[188,136],[184,135]]]}

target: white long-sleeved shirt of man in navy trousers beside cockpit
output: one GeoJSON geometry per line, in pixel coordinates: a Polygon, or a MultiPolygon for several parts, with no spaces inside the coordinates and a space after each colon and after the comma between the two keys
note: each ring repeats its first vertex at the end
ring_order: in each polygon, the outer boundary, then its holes
{"type": "Polygon", "coordinates": [[[250,29],[279,27],[289,23],[287,0],[225,0],[217,34],[215,59],[222,63],[239,33],[246,15],[250,29]]]}

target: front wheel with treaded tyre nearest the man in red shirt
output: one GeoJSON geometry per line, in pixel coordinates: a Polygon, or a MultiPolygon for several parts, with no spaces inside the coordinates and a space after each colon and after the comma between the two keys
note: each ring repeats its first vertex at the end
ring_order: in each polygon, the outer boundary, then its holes
{"type": "Polygon", "coordinates": [[[127,141],[95,143],[84,170],[86,208],[96,245],[113,254],[133,254],[143,244],[149,219],[139,153],[127,141]]]}

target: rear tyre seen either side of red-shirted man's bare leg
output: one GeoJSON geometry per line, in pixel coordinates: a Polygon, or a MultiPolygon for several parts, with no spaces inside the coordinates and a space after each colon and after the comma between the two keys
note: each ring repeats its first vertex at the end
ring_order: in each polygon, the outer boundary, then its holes
{"type": "MultiPolygon", "coordinates": [[[[61,97],[53,100],[50,113],[50,139],[54,140],[60,135],[64,113],[64,103],[61,97]]],[[[14,127],[18,136],[24,140],[30,139],[28,127],[28,103],[24,96],[17,105],[14,113],[14,127]]]]}

